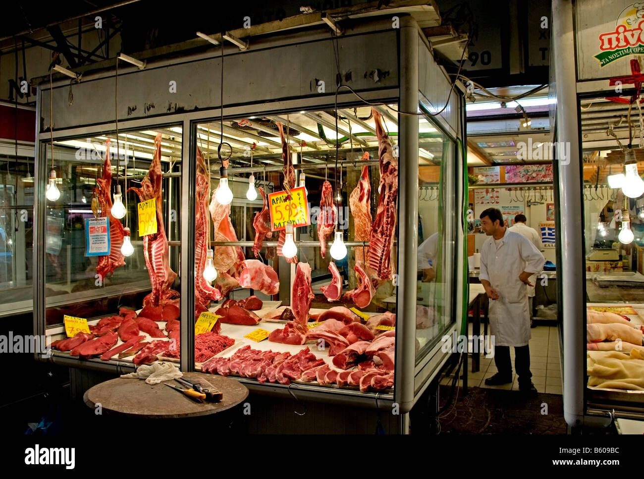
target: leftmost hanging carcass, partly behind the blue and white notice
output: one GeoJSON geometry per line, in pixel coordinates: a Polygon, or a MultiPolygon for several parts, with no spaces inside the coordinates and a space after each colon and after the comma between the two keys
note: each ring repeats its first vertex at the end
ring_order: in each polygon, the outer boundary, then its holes
{"type": "MultiPolygon", "coordinates": [[[[117,171],[117,176],[118,176],[117,171]]],[[[124,256],[120,252],[123,246],[125,230],[123,225],[112,216],[112,164],[109,161],[109,139],[105,142],[105,162],[103,164],[102,178],[96,178],[97,187],[94,189],[97,200],[100,203],[100,216],[108,218],[109,223],[109,255],[100,256],[99,264],[96,267],[97,274],[102,278],[112,276],[114,270],[125,265],[124,256]]]]}

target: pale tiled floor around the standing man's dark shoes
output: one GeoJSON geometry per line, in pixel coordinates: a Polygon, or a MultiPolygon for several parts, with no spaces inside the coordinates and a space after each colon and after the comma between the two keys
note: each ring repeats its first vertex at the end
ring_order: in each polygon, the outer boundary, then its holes
{"type": "MultiPolygon", "coordinates": [[[[471,333],[471,324],[469,325],[471,333]]],[[[482,329],[482,326],[481,326],[482,329]]],[[[540,393],[561,394],[561,366],[559,357],[559,338],[557,328],[554,326],[536,326],[531,329],[532,339],[530,340],[530,371],[532,382],[540,393]]],[[[471,372],[472,355],[468,355],[468,386],[492,389],[504,389],[518,391],[518,381],[514,371],[515,349],[510,348],[512,359],[513,380],[512,384],[503,386],[486,386],[485,379],[497,372],[494,358],[486,358],[483,354],[480,358],[480,371],[471,372]]],[[[440,384],[450,384],[452,377],[442,379],[440,384]]],[[[459,380],[462,386],[462,380],[459,380]]]]}

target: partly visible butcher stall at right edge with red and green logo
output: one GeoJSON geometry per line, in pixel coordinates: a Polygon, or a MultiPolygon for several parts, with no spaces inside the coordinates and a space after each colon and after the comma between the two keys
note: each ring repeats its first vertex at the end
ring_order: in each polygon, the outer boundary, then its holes
{"type": "MultiPolygon", "coordinates": [[[[644,403],[643,10],[553,2],[551,123],[559,204],[564,415],[570,427],[642,416],[644,403]],[[618,44],[619,43],[619,44],[618,44]],[[576,62],[570,59],[576,58],[576,62]],[[565,294],[564,294],[565,292],[565,294]]],[[[620,424],[621,423],[621,424],[620,424]]]]}

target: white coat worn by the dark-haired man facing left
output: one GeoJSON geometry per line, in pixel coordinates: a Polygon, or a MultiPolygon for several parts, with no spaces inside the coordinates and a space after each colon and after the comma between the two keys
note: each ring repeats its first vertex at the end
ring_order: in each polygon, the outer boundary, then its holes
{"type": "Polygon", "coordinates": [[[480,279],[489,281],[498,299],[489,300],[489,324],[497,346],[526,346],[530,340],[527,285],[521,272],[541,272],[544,256],[529,239],[506,229],[500,245],[490,236],[481,249],[480,279]]]}

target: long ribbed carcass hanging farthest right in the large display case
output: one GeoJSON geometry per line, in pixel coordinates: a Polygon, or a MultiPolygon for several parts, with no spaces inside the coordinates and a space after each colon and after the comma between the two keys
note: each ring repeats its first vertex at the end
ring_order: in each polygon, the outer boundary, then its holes
{"type": "MultiPolygon", "coordinates": [[[[378,137],[380,183],[378,185],[378,209],[369,236],[367,266],[374,271],[372,281],[377,288],[392,277],[393,237],[396,228],[398,205],[398,160],[393,156],[393,146],[384,131],[381,114],[372,108],[375,134],[378,137]]],[[[357,303],[356,303],[357,304],[357,303]]]]}

